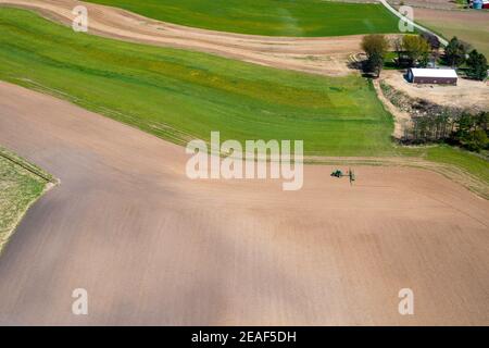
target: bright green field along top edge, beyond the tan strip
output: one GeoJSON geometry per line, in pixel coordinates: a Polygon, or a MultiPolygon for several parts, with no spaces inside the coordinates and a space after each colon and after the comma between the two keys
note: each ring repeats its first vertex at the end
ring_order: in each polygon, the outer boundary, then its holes
{"type": "Polygon", "coordinates": [[[89,0],[160,21],[230,33],[340,36],[397,33],[398,20],[380,4],[322,0],[89,0]]]}

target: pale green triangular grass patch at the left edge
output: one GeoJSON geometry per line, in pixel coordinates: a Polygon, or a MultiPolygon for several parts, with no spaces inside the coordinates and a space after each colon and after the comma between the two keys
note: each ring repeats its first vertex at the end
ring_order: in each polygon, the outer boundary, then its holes
{"type": "Polygon", "coordinates": [[[0,253],[29,207],[54,184],[50,174],[0,147],[0,253]]]}

